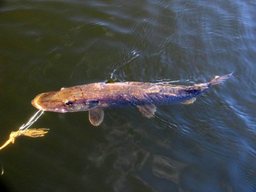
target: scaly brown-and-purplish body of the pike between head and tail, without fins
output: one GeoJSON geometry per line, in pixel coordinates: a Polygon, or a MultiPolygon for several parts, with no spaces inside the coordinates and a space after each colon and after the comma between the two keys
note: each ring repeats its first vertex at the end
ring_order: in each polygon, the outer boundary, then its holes
{"type": "Polygon", "coordinates": [[[124,106],[137,106],[146,104],[166,105],[183,102],[199,92],[194,90],[172,89],[158,84],[134,84],[128,83],[99,83],[81,86],[81,90],[86,98],[97,99],[102,108],[115,108],[124,106]],[[90,87],[92,88],[90,89],[90,87]],[[100,89],[98,88],[100,86],[100,89]]]}

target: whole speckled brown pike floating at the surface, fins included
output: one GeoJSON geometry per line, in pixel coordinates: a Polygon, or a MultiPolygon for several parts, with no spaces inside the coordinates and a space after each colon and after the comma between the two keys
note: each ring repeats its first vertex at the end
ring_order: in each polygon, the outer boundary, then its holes
{"type": "Polygon", "coordinates": [[[232,74],[216,76],[208,83],[177,86],[150,82],[99,82],[39,94],[32,105],[52,112],[89,111],[92,125],[99,126],[104,108],[136,106],[140,113],[152,118],[158,105],[192,104],[196,97],[215,84],[223,84],[232,74]]]}

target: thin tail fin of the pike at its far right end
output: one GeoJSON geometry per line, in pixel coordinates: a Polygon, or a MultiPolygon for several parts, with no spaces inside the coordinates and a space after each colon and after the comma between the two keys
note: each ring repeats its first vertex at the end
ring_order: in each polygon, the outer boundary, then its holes
{"type": "Polygon", "coordinates": [[[201,94],[204,94],[204,90],[207,89],[208,87],[210,87],[211,85],[215,85],[215,84],[223,84],[226,80],[228,80],[228,78],[230,78],[232,76],[231,74],[226,74],[224,76],[216,76],[216,78],[214,78],[213,80],[211,80],[208,83],[200,83],[200,84],[195,84],[194,86],[188,87],[188,90],[199,90],[201,94]]]}

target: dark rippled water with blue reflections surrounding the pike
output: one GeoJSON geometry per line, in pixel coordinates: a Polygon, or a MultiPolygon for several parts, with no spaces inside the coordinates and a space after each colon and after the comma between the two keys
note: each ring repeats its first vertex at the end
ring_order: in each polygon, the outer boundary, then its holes
{"type": "Polygon", "coordinates": [[[233,72],[191,105],[45,112],[0,151],[2,188],[24,191],[256,191],[256,2],[24,0],[0,3],[0,143],[42,92],[92,82],[192,85],[233,72]]]}

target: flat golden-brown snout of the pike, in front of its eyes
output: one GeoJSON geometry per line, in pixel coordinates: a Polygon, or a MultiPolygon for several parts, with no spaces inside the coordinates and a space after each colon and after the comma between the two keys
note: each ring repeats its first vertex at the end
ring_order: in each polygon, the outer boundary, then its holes
{"type": "Polygon", "coordinates": [[[42,93],[32,100],[32,105],[39,110],[53,112],[68,112],[68,108],[61,99],[56,97],[55,92],[42,93]]]}

